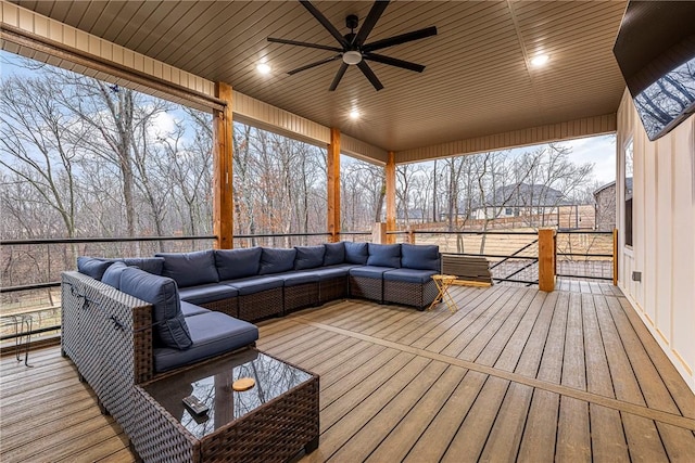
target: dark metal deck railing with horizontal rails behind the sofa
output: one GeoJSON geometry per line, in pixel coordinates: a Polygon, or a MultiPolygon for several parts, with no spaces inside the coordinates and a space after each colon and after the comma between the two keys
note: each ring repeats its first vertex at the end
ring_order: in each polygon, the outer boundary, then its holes
{"type": "MultiPolygon", "coordinates": [[[[395,242],[437,244],[440,252],[480,256],[490,261],[495,282],[539,284],[536,231],[396,231],[395,242]]],[[[372,232],[341,232],[342,240],[371,241],[372,232]]],[[[157,252],[211,248],[214,235],[46,239],[0,241],[2,287],[0,316],[28,313],[33,335],[56,334],[61,321],[60,273],[75,269],[77,256],[144,257],[157,252]]],[[[235,236],[236,247],[315,245],[330,233],[245,234],[235,236]]],[[[614,234],[597,231],[559,231],[556,235],[556,274],[571,279],[614,279],[614,234]]],[[[11,327],[0,340],[15,337],[11,327]]]]}

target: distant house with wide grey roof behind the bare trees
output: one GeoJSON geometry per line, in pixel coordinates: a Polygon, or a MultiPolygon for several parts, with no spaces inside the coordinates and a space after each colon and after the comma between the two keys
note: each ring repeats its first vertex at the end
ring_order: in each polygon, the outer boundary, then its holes
{"type": "Polygon", "coordinates": [[[473,208],[473,219],[530,217],[557,213],[557,207],[569,205],[563,192],[544,184],[516,183],[495,190],[484,206],[473,208]]]}

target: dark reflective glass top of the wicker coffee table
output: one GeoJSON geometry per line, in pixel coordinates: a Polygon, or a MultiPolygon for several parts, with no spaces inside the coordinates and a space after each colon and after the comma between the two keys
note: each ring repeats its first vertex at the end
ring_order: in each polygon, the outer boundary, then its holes
{"type": "Polygon", "coordinates": [[[311,378],[303,370],[248,350],[163,377],[142,388],[201,439],[311,378]],[[242,377],[253,378],[255,385],[244,391],[232,390],[232,383],[242,377]],[[200,415],[189,411],[181,400],[190,395],[210,410],[200,415]]]}

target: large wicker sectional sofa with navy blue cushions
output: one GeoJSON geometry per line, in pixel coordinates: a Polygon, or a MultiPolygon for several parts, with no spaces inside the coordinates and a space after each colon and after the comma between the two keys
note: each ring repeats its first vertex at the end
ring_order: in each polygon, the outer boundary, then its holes
{"type": "Polygon", "coordinates": [[[254,321],[330,300],[429,306],[437,246],[329,243],[80,257],[62,274],[62,350],[129,434],[132,385],[255,345],[254,321]]]}

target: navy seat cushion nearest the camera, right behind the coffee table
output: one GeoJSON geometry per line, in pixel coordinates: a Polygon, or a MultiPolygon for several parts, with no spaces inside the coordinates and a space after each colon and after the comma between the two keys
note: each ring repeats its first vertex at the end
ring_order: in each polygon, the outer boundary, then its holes
{"type": "Polygon", "coordinates": [[[186,319],[193,339],[186,350],[154,349],[154,370],[163,372],[241,349],[258,339],[258,329],[220,312],[206,312],[186,319]]]}

